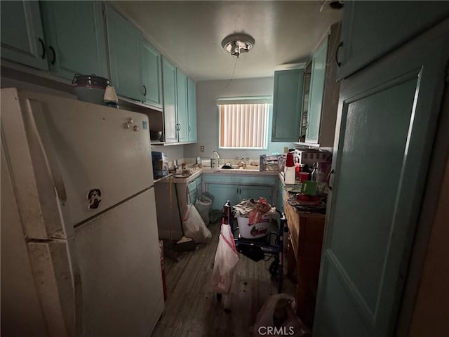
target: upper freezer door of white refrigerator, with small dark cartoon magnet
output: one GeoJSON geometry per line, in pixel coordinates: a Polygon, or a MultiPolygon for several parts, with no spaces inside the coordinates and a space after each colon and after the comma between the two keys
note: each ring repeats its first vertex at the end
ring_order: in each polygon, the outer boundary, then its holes
{"type": "Polygon", "coordinates": [[[67,194],[60,205],[67,230],[153,185],[145,114],[47,95],[27,97],[26,115],[34,117],[53,180],[59,171],[67,194]],[[128,118],[133,122],[124,128],[128,118]],[[89,195],[97,189],[99,204],[89,195]]]}

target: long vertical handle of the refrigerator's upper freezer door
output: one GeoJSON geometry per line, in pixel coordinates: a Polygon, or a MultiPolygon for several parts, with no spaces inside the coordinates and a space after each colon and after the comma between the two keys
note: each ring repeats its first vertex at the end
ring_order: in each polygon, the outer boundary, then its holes
{"type": "Polygon", "coordinates": [[[46,160],[51,178],[53,179],[53,186],[55,187],[56,194],[58,194],[61,204],[64,205],[65,201],[67,201],[67,192],[65,190],[64,180],[62,179],[58,159],[56,159],[55,148],[51,142],[46,123],[41,121],[41,119],[44,118],[41,103],[36,100],[27,100],[27,103],[29,104],[29,126],[31,126],[29,131],[41,148],[43,158],[46,160]],[[37,124],[39,124],[39,128],[42,131],[40,133],[37,124]],[[43,146],[44,143],[46,144],[46,147],[43,146]]]}

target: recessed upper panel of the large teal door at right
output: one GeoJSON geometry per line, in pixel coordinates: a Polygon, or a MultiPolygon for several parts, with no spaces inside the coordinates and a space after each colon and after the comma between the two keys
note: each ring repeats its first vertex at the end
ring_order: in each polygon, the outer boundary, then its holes
{"type": "Polygon", "coordinates": [[[377,311],[377,291],[395,225],[401,172],[405,169],[403,161],[418,79],[416,73],[412,76],[413,79],[347,104],[343,112],[347,123],[339,171],[344,175],[338,193],[348,197],[335,201],[333,221],[340,225],[332,230],[329,249],[339,257],[370,315],[377,311]],[[377,147],[380,143],[385,146],[377,147]],[[366,197],[368,193],[372,197],[366,197]],[[371,213],[374,201],[382,211],[371,213]],[[354,259],[354,253],[361,253],[363,258],[354,259]]]}

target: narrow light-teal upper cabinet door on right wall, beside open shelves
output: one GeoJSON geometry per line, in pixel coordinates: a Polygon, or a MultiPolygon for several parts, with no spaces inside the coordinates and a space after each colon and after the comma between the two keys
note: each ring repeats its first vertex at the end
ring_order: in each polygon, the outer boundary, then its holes
{"type": "Polygon", "coordinates": [[[311,63],[309,110],[307,112],[306,143],[319,143],[321,108],[323,106],[324,79],[326,77],[326,57],[328,39],[315,51],[311,63]]]}

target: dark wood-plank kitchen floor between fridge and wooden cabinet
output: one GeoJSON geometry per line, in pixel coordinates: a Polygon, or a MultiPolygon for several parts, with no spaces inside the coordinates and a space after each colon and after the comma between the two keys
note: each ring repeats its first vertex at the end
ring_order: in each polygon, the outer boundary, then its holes
{"type": "MultiPolygon", "coordinates": [[[[277,283],[268,270],[272,260],[254,262],[239,254],[234,289],[218,301],[210,283],[220,223],[210,225],[209,230],[212,239],[208,244],[187,252],[179,262],[165,258],[168,298],[152,337],[253,336],[257,312],[277,293],[277,283]]],[[[283,292],[295,294],[289,279],[283,281],[283,292]]]]}

